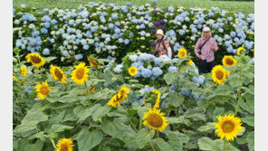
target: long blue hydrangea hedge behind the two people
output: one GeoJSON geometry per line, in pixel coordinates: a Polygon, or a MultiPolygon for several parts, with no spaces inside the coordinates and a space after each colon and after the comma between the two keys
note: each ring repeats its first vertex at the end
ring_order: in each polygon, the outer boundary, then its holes
{"type": "MultiPolygon", "coordinates": [[[[43,9],[21,5],[14,8],[14,48],[22,54],[39,52],[57,57],[57,64],[86,61],[87,55],[112,57],[120,61],[128,52],[154,50],[156,30],[161,28],[175,52],[194,46],[203,27],[212,29],[219,46],[216,64],[224,55],[234,55],[244,46],[248,55],[254,50],[254,14],[235,14],[218,8],[158,8],[158,2],[135,6],[91,2],[78,9],[43,9]]],[[[194,55],[193,55],[194,56],[194,55]]],[[[198,65],[197,58],[193,61],[198,65]]]]}

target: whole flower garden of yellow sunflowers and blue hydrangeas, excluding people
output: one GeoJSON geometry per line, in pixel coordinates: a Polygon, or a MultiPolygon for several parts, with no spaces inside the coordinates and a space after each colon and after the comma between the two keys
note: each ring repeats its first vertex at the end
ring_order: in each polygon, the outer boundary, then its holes
{"type": "Polygon", "coordinates": [[[157,4],[14,8],[14,150],[254,150],[254,14],[157,4]],[[149,54],[159,28],[173,59],[149,54]]]}

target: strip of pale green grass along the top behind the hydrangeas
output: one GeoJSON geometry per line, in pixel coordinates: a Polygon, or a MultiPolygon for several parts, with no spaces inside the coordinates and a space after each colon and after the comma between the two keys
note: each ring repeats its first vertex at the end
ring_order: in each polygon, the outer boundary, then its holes
{"type": "MultiPolygon", "coordinates": [[[[93,0],[94,2],[103,2],[106,4],[115,3],[125,5],[126,2],[132,5],[145,5],[151,3],[151,0],[93,0]]],[[[28,5],[42,11],[43,8],[77,8],[79,5],[86,5],[92,0],[14,0],[14,7],[20,5],[28,5]]],[[[234,11],[236,13],[242,12],[244,14],[254,13],[254,2],[237,2],[237,1],[215,1],[215,0],[158,0],[158,7],[164,8],[168,6],[183,6],[186,8],[191,7],[219,7],[227,11],[234,11]],[[167,3],[168,2],[168,3],[167,3]]]]}

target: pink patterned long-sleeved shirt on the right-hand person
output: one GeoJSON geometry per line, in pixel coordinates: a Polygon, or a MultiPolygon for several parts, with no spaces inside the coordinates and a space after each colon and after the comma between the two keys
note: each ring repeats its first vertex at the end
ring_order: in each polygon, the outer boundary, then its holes
{"type": "MultiPolygon", "coordinates": [[[[198,49],[201,47],[201,45],[206,42],[205,37],[201,37],[198,39],[198,41],[196,42],[196,46],[195,46],[195,53],[196,56],[198,56],[198,49]]],[[[217,44],[215,42],[215,39],[213,37],[210,37],[210,39],[206,42],[206,44],[203,46],[202,50],[201,50],[201,59],[202,60],[206,60],[207,62],[210,61],[214,61],[215,57],[214,57],[214,52],[216,52],[218,50],[217,44]],[[214,46],[215,50],[211,50],[210,47],[214,46]]]]}

